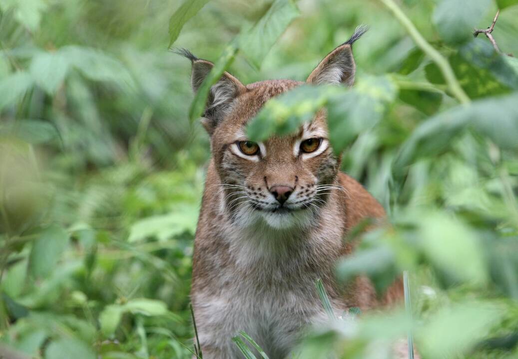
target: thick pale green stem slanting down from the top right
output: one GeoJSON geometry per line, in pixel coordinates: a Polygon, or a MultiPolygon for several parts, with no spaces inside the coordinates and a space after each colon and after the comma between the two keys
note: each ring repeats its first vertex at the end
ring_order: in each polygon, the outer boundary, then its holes
{"type": "Polygon", "coordinates": [[[415,28],[414,24],[393,0],[380,0],[380,2],[392,11],[396,19],[401,23],[401,25],[403,25],[403,27],[405,27],[415,44],[439,67],[442,72],[442,76],[448,84],[451,94],[461,103],[471,102],[461,85],[458,83],[448,60],[425,40],[425,38],[419,33],[418,29],[415,28]]]}

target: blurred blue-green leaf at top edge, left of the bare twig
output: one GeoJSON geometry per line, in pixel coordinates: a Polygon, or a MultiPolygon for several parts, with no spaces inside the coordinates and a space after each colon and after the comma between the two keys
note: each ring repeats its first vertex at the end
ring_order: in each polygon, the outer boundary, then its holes
{"type": "Polygon", "coordinates": [[[449,43],[458,43],[473,37],[477,27],[491,9],[491,0],[441,0],[433,20],[441,38],[449,43]]]}

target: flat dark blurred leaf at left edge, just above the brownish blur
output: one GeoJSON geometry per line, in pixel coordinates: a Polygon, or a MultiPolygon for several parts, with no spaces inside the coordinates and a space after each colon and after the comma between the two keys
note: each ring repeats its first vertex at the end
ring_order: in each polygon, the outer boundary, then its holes
{"type": "Polygon", "coordinates": [[[14,136],[28,143],[40,144],[59,137],[59,132],[51,122],[22,119],[0,125],[0,136],[14,136]]]}

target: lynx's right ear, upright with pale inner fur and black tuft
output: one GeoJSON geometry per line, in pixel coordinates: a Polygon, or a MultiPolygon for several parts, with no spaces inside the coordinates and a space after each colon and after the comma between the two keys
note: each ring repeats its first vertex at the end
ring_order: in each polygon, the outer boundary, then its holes
{"type": "Polygon", "coordinates": [[[352,44],[365,34],[367,26],[356,27],[353,36],[331,51],[318,66],[311,72],[306,82],[315,85],[344,83],[351,86],[354,82],[354,63],[352,44]]]}

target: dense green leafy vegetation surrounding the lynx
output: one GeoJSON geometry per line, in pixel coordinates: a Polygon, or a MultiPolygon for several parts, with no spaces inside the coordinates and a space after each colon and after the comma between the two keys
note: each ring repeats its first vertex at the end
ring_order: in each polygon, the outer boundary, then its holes
{"type": "Polygon", "coordinates": [[[1,0],[0,357],[191,357],[210,81],[304,80],[361,23],[353,88],[299,87],[249,134],[326,107],[392,224],[337,275],[382,291],[406,271],[411,305],[344,313],[294,357],[384,358],[409,332],[425,358],[518,356],[516,18],[515,0],[1,0]],[[495,47],[473,30],[497,8],[495,47]],[[217,64],[196,98],[171,44],[217,64]]]}

